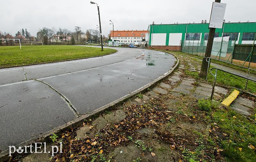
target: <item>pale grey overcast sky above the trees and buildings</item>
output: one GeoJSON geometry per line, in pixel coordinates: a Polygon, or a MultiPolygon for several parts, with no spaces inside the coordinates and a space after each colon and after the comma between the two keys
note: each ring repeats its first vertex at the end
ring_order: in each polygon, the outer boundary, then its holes
{"type": "MultiPolygon", "coordinates": [[[[173,23],[209,22],[214,0],[94,0],[100,6],[102,33],[112,30],[147,30],[148,25],[173,23]]],[[[255,0],[221,0],[227,4],[226,22],[256,22],[255,0]]],[[[90,0],[1,0],[0,31],[15,35],[21,28],[27,28],[36,36],[39,28],[67,28],[74,26],[96,29],[99,25],[96,4],[90,0]]]]}

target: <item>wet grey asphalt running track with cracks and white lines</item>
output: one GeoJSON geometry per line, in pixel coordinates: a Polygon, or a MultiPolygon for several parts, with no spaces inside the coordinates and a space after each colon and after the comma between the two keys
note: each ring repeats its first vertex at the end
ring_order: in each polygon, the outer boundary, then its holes
{"type": "Polygon", "coordinates": [[[116,49],[102,57],[0,69],[0,150],[114,102],[175,63],[159,51],[116,49]]]}

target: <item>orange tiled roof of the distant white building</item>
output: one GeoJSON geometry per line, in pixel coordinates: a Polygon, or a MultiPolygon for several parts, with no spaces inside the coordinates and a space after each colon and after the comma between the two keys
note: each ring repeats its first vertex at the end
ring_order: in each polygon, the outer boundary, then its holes
{"type": "MultiPolygon", "coordinates": [[[[114,37],[141,37],[141,33],[148,33],[146,30],[114,30],[114,37]],[[133,35],[134,34],[134,35],[133,35]]],[[[111,31],[110,34],[111,37],[113,37],[113,31],[111,31]]],[[[143,35],[145,37],[145,34],[143,35]]]]}

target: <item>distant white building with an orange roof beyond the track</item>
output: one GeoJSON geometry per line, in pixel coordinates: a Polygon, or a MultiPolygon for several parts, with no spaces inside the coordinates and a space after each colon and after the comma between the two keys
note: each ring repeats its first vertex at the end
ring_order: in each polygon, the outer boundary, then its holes
{"type": "MultiPolygon", "coordinates": [[[[143,44],[145,41],[146,33],[144,30],[114,30],[114,40],[119,40],[120,43],[132,43],[135,45],[143,44]]],[[[111,40],[113,39],[113,31],[111,31],[111,40]]]]}

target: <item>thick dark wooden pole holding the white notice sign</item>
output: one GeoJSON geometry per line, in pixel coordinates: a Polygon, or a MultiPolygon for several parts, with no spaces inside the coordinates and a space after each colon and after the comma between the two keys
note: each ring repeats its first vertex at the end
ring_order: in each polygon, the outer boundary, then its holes
{"type": "MultiPolygon", "coordinates": [[[[215,0],[215,2],[220,3],[220,0],[215,0]]],[[[214,35],[215,35],[215,28],[210,28],[206,51],[202,61],[201,71],[199,74],[200,78],[206,78],[207,67],[208,67],[208,62],[206,62],[206,58],[211,57],[214,35]]]]}

